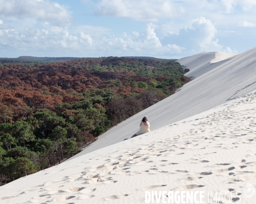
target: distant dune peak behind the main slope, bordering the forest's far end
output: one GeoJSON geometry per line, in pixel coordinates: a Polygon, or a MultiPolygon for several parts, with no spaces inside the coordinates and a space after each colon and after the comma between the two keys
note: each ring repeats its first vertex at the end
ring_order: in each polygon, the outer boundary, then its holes
{"type": "Polygon", "coordinates": [[[177,62],[190,69],[185,75],[188,77],[199,77],[208,71],[222,65],[238,54],[224,52],[203,52],[190,57],[184,57],[177,62]]]}

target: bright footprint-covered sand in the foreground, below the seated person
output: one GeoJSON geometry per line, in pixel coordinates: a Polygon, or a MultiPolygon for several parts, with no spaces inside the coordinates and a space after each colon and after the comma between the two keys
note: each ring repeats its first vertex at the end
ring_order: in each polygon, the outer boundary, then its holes
{"type": "Polygon", "coordinates": [[[255,132],[252,93],[13,181],[0,203],[143,204],[145,190],[200,190],[236,191],[253,204],[244,185],[256,187],[255,132]]]}

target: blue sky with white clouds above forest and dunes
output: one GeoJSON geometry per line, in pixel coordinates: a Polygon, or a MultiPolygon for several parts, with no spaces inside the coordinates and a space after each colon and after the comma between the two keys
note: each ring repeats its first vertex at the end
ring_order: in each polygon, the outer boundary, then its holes
{"type": "Polygon", "coordinates": [[[256,0],[0,0],[0,57],[180,59],[255,39],[256,0]]]}

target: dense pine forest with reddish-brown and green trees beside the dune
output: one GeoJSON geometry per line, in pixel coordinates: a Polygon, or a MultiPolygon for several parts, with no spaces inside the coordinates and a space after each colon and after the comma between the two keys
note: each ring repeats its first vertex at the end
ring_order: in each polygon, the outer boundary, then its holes
{"type": "Polygon", "coordinates": [[[0,185],[61,163],[192,80],[175,61],[32,62],[0,64],[0,185]]]}

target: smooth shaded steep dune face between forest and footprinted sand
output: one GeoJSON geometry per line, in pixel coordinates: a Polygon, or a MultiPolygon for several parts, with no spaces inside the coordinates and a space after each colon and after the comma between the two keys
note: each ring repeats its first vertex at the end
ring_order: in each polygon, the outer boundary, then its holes
{"type": "Polygon", "coordinates": [[[256,48],[233,57],[187,83],[172,96],[113,127],[71,159],[130,138],[139,129],[143,116],[148,116],[150,129],[155,130],[253,90],[256,90],[256,48]]]}

